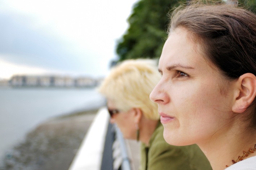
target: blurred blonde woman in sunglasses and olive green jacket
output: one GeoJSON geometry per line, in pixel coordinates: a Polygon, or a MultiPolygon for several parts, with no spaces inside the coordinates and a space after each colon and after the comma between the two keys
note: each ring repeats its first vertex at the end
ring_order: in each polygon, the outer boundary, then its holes
{"type": "Polygon", "coordinates": [[[127,60],[112,68],[98,89],[107,99],[110,121],[124,138],[141,141],[140,170],[211,169],[197,145],[177,147],[165,142],[158,106],[149,99],[160,78],[150,59],[127,60]]]}

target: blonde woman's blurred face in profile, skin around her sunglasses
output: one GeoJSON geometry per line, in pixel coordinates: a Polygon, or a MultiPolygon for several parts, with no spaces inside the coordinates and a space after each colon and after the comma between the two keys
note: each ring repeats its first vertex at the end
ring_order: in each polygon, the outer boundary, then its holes
{"type": "MultiPolygon", "coordinates": [[[[110,110],[117,109],[112,100],[107,100],[107,107],[110,110]]],[[[134,124],[132,112],[133,109],[130,109],[127,112],[121,111],[110,118],[110,122],[112,124],[115,123],[118,126],[126,139],[136,139],[136,126],[134,124]]]]}

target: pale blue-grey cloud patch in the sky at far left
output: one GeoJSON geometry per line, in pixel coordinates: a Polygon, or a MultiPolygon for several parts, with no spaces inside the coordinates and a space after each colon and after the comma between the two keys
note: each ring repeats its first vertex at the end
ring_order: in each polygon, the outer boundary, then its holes
{"type": "Polygon", "coordinates": [[[18,64],[61,69],[79,63],[74,60],[78,54],[69,51],[68,44],[50,36],[45,30],[29,27],[29,19],[0,14],[0,52],[4,54],[3,59],[18,64]]]}

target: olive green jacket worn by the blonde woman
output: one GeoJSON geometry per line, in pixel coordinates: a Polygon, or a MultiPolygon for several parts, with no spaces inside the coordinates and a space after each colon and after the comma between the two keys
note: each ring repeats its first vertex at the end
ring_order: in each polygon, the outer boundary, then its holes
{"type": "Polygon", "coordinates": [[[141,144],[140,170],[212,170],[197,145],[172,146],[163,138],[164,127],[157,125],[149,146],[141,144]]]}

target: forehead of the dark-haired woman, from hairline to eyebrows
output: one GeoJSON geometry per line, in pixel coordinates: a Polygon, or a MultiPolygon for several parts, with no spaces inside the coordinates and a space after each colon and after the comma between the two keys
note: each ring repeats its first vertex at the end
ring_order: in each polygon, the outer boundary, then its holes
{"type": "MultiPolygon", "coordinates": [[[[191,38],[191,37],[190,37],[191,38]]],[[[194,69],[197,71],[216,70],[216,67],[208,61],[199,43],[190,40],[184,29],[177,28],[168,37],[164,44],[162,55],[159,59],[158,69],[194,69]]]]}

